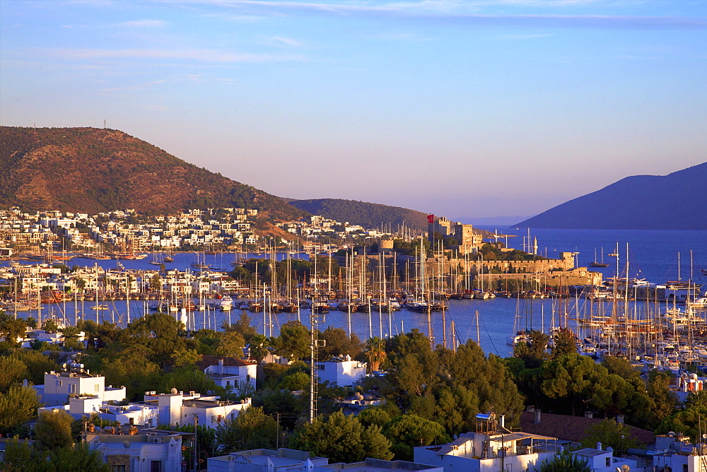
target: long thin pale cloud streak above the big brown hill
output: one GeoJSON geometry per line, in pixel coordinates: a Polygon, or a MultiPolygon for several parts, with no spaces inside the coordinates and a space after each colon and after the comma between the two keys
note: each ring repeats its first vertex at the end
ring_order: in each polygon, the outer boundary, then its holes
{"type": "Polygon", "coordinates": [[[201,62],[303,61],[292,54],[253,54],[217,49],[55,49],[62,59],[189,59],[201,62]]]}

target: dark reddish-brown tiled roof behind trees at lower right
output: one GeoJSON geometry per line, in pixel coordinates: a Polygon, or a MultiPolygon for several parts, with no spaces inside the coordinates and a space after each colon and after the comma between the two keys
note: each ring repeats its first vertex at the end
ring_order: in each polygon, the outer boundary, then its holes
{"type": "MultiPolygon", "coordinates": [[[[522,412],[520,415],[520,429],[522,432],[532,432],[536,435],[553,436],[558,439],[580,442],[587,436],[590,426],[604,421],[602,418],[585,418],[584,416],[555,415],[553,413],[540,413],[540,423],[535,424],[535,413],[522,412]]],[[[629,426],[631,437],[645,444],[655,442],[652,431],[642,430],[640,427],[629,426]]]]}

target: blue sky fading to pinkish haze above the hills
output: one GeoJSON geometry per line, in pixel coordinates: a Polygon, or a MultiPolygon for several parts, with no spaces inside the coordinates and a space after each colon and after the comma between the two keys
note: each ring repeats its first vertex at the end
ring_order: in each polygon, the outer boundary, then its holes
{"type": "Polygon", "coordinates": [[[510,224],[707,161],[707,1],[0,1],[0,124],[104,120],[278,196],[510,224]]]}

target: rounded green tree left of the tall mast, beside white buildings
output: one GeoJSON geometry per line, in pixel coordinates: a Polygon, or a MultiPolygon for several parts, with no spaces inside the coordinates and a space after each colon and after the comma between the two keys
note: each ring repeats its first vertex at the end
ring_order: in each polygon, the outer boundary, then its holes
{"type": "Polygon", "coordinates": [[[239,413],[235,420],[216,427],[218,450],[223,454],[250,449],[274,449],[277,444],[277,423],[251,406],[239,413]]]}

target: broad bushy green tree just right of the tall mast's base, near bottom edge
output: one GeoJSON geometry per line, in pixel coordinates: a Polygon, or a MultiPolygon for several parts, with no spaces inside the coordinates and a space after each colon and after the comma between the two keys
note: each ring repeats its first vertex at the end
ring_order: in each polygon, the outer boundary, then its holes
{"type": "Polygon", "coordinates": [[[366,457],[392,459],[390,441],[381,434],[379,426],[363,427],[355,416],[338,411],[328,420],[317,418],[299,430],[291,440],[291,447],[327,457],[332,462],[358,462],[366,457]]]}

